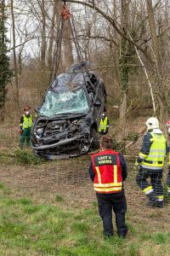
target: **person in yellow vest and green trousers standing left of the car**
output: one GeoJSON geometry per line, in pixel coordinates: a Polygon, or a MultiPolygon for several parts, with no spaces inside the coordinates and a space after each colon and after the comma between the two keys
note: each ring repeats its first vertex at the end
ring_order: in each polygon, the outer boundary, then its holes
{"type": "Polygon", "coordinates": [[[26,141],[26,146],[31,147],[31,126],[33,124],[32,116],[30,113],[31,108],[26,106],[24,112],[20,117],[20,148],[24,148],[26,141]]]}

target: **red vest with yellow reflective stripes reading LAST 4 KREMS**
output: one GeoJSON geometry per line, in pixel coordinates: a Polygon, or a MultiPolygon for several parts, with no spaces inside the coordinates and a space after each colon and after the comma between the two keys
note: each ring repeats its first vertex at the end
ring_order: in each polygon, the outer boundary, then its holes
{"type": "Polygon", "coordinates": [[[113,150],[105,150],[92,155],[94,190],[97,193],[122,191],[122,170],[118,154],[113,150]]]}

